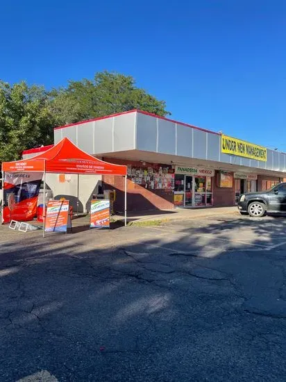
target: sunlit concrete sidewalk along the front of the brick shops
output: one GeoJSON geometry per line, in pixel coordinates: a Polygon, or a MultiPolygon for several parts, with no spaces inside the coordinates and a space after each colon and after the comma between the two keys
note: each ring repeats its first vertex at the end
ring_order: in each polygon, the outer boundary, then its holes
{"type": "MultiPolygon", "coordinates": [[[[144,211],[142,213],[128,213],[128,223],[141,222],[170,222],[186,219],[201,219],[203,217],[215,217],[220,215],[237,215],[237,207],[217,207],[217,208],[174,208],[172,210],[144,211]]],[[[124,222],[122,215],[112,217],[117,221],[124,222]]]]}

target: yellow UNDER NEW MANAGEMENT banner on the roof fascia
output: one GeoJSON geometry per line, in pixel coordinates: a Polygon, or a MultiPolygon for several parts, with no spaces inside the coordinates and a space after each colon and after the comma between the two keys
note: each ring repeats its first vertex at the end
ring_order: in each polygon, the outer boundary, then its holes
{"type": "Polygon", "coordinates": [[[265,147],[245,142],[244,140],[237,140],[227,135],[221,135],[221,152],[244,156],[244,158],[262,160],[263,162],[267,160],[267,149],[265,147]]]}

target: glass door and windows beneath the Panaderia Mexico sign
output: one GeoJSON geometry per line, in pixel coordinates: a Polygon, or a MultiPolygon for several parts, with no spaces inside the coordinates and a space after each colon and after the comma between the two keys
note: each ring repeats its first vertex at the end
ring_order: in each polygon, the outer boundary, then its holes
{"type": "Polygon", "coordinates": [[[175,174],[174,204],[178,207],[212,206],[212,178],[175,174]]]}

